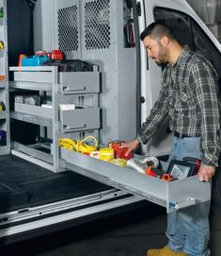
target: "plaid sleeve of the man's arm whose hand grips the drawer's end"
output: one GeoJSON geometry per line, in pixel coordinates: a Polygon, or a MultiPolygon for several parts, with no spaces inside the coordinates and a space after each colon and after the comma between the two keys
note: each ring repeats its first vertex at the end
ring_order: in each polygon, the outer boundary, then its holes
{"type": "Polygon", "coordinates": [[[217,166],[220,154],[217,75],[213,67],[203,61],[197,62],[192,74],[201,112],[202,164],[217,166]]]}

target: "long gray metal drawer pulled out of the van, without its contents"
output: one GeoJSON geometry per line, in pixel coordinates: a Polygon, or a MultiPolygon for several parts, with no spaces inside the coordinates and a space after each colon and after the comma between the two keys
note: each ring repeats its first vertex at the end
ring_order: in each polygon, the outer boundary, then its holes
{"type": "Polygon", "coordinates": [[[211,182],[200,182],[197,176],[167,182],[64,148],[61,148],[61,159],[72,171],[133,195],[142,196],[166,207],[167,213],[211,198],[211,182]]]}

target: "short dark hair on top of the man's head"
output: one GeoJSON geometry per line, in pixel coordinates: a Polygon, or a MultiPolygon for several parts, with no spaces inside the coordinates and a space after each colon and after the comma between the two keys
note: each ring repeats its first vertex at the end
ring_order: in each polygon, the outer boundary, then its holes
{"type": "Polygon", "coordinates": [[[161,23],[152,23],[150,26],[146,27],[140,34],[140,40],[143,41],[148,36],[154,39],[161,39],[163,36],[167,36],[169,39],[175,40],[171,30],[161,23]]]}

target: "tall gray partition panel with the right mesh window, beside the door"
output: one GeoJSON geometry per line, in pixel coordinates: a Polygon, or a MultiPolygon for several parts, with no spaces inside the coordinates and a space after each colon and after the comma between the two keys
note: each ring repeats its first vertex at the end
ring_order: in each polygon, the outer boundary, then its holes
{"type": "Polygon", "coordinates": [[[134,48],[124,47],[123,0],[82,0],[82,59],[99,65],[102,77],[102,144],[136,136],[134,48]]]}

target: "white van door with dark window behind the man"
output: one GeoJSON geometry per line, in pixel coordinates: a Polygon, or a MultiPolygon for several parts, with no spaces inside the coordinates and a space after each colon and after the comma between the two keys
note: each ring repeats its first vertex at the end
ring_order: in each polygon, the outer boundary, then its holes
{"type": "MultiPolygon", "coordinates": [[[[161,22],[170,27],[182,45],[188,44],[197,53],[210,60],[219,75],[221,87],[221,45],[213,36],[209,28],[199,19],[196,12],[186,1],[175,0],[146,0],[141,2],[145,16],[140,18],[146,21],[146,26],[152,22],[161,22]]],[[[143,30],[144,26],[141,28],[143,30]]],[[[146,99],[142,105],[142,122],[150,113],[160,91],[160,77],[162,70],[154,61],[145,58],[145,49],[142,52],[142,96],[146,99]]],[[[166,134],[168,123],[155,134],[145,151],[150,155],[164,155],[170,149],[171,135],[166,134]]]]}

